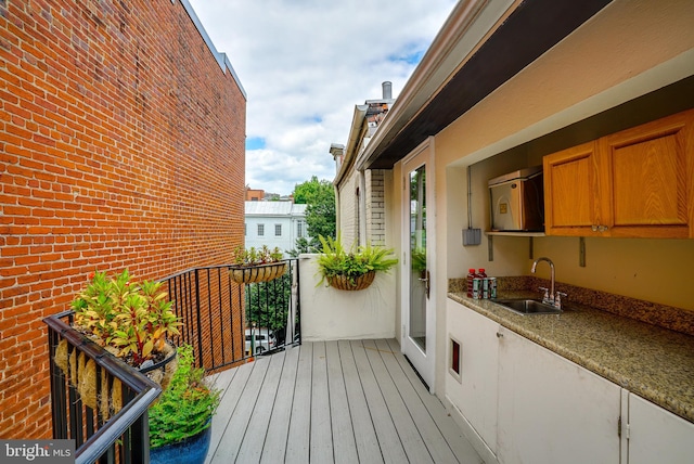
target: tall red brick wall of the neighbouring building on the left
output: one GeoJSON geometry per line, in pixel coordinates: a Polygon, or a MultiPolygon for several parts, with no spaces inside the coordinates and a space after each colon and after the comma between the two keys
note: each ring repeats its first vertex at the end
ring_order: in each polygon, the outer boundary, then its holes
{"type": "Polygon", "coordinates": [[[180,2],[0,0],[0,438],[50,436],[46,315],[243,241],[245,98],[180,2]]]}

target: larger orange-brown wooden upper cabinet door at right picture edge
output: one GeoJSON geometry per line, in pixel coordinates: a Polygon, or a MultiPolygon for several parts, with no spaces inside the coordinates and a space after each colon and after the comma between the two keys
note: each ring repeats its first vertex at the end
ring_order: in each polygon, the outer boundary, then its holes
{"type": "Polygon", "coordinates": [[[612,236],[694,236],[692,112],[599,140],[601,208],[612,236]]]}

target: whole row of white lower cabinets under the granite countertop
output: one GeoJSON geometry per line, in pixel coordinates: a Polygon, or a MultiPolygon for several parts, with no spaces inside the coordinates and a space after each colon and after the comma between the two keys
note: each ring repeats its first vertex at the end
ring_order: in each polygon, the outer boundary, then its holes
{"type": "Polygon", "coordinates": [[[694,463],[693,423],[457,301],[447,311],[446,398],[488,464],[694,463]]]}

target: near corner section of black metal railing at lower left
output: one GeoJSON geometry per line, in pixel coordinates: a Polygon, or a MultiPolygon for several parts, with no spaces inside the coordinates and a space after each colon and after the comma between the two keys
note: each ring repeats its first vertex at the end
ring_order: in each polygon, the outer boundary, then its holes
{"type": "Polygon", "coordinates": [[[53,438],[75,440],[78,464],[149,462],[147,408],[162,389],[73,330],[72,311],[49,327],[53,438]]]}

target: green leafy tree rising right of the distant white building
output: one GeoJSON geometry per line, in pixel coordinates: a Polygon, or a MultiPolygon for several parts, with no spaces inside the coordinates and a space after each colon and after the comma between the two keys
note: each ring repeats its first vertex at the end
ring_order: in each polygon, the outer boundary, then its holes
{"type": "MultiPolygon", "coordinates": [[[[294,188],[294,202],[306,204],[306,225],[309,243],[297,240],[298,253],[320,250],[319,235],[335,239],[335,189],[327,180],[318,180],[316,176],[311,180],[299,183],[294,188]]],[[[292,254],[292,252],[290,252],[292,254]]]]}

